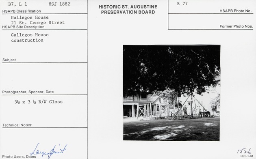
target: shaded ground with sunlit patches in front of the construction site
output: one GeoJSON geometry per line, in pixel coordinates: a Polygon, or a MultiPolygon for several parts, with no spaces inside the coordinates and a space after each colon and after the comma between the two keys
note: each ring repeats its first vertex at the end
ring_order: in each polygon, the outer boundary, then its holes
{"type": "Polygon", "coordinates": [[[124,122],[124,140],[219,141],[219,120],[141,120],[124,122]]]}

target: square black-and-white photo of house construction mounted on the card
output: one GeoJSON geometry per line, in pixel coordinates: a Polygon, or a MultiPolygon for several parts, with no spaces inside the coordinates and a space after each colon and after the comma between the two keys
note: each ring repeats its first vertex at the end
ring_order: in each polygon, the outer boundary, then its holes
{"type": "Polygon", "coordinates": [[[220,45],[123,45],[123,140],[219,141],[220,45]]]}

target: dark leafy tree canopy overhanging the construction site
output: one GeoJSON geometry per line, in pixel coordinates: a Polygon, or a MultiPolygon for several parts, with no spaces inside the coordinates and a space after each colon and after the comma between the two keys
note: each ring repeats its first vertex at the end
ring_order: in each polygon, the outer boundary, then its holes
{"type": "Polygon", "coordinates": [[[220,73],[219,45],[124,45],[124,96],[174,89],[198,94],[215,85],[220,73]]]}

